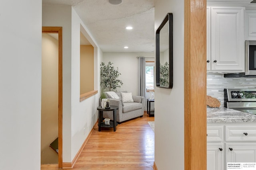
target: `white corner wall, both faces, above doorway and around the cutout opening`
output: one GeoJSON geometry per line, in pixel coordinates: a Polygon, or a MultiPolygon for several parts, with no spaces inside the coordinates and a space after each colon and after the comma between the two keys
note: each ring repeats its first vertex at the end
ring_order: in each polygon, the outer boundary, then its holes
{"type": "Polygon", "coordinates": [[[72,162],[98,119],[99,93],[80,102],[80,31],[94,46],[94,90],[102,52],[73,7],[43,5],[42,21],[63,27],[63,162],[72,162]]]}

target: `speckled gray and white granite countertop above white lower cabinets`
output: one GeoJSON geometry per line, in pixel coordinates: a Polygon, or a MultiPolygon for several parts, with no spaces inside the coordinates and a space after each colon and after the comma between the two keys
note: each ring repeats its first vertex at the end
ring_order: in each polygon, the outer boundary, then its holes
{"type": "Polygon", "coordinates": [[[207,122],[255,122],[256,115],[226,107],[207,107],[207,122]]]}

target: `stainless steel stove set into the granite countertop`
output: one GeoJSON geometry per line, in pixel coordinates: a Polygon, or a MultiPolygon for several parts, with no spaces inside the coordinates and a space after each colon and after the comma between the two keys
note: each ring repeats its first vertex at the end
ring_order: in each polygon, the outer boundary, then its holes
{"type": "Polygon", "coordinates": [[[224,106],[256,115],[256,89],[224,89],[224,106]]]}

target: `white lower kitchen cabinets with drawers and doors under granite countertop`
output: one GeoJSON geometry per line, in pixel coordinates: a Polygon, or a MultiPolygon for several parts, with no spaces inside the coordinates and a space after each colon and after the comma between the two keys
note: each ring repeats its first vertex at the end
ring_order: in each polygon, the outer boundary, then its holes
{"type": "Polygon", "coordinates": [[[228,162],[256,162],[255,123],[207,126],[207,170],[227,170],[228,162]]]}

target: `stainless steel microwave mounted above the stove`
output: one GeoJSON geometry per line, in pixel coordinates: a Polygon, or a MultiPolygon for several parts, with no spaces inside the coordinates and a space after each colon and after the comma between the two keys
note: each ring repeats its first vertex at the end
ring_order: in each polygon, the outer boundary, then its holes
{"type": "Polygon", "coordinates": [[[245,41],[245,72],[228,73],[224,77],[256,77],[256,41],[245,41]]]}

